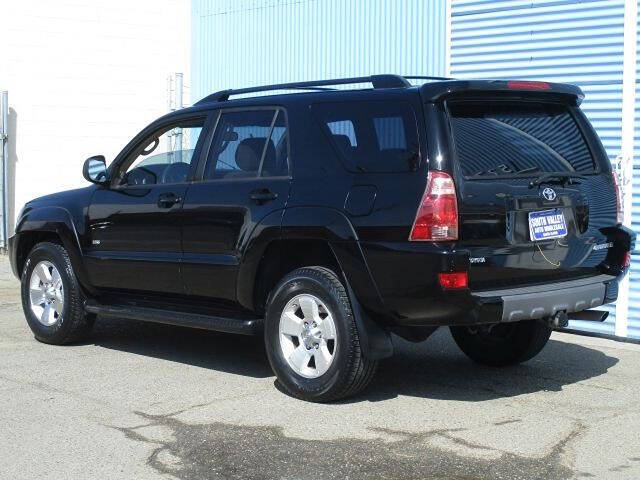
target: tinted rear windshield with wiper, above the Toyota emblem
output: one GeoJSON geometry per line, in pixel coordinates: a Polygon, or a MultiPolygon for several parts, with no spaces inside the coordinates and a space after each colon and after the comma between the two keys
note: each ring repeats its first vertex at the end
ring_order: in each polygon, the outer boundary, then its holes
{"type": "Polygon", "coordinates": [[[449,103],[465,176],[593,173],[586,141],[568,108],[540,103],[449,103]]]}

